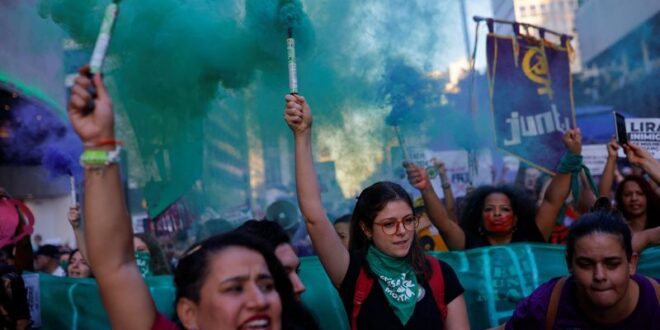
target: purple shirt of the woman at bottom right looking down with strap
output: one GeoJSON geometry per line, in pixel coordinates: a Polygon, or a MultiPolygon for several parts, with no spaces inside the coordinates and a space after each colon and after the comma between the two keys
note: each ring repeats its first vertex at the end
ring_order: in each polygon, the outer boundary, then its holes
{"type": "MultiPolygon", "coordinates": [[[[660,329],[660,304],[653,284],[641,275],[632,279],[639,285],[637,306],[625,320],[613,325],[601,325],[589,319],[577,305],[575,281],[569,277],[562,288],[557,316],[553,329],[660,329]]],[[[516,306],[513,317],[506,323],[506,329],[545,329],[545,317],[552,289],[559,278],[542,284],[532,294],[516,306]]]]}

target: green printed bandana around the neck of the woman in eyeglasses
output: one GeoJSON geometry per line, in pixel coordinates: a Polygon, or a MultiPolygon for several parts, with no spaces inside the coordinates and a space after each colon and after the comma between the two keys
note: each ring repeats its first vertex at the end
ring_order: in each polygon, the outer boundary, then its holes
{"type": "Polygon", "coordinates": [[[415,311],[419,293],[417,276],[412,265],[405,257],[390,257],[373,245],[367,251],[367,262],[378,277],[394,314],[405,325],[415,311]]]}

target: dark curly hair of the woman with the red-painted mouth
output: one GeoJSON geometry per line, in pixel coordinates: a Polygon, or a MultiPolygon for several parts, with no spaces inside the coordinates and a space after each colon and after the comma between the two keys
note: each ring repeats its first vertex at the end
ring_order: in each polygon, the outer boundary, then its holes
{"type": "Polygon", "coordinates": [[[481,186],[468,194],[460,207],[460,225],[466,235],[478,236],[483,227],[483,210],[486,197],[490,194],[504,194],[511,201],[513,214],[518,219],[517,230],[522,233],[535,230],[536,203],[525,192],[511,185],[481,186]]]}

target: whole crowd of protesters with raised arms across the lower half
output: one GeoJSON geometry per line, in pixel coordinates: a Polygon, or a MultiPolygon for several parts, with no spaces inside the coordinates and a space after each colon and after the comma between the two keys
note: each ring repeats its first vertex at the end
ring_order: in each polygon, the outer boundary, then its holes
{"type": "MultiPolygon", "coordinates": [[[[2,192],[0,276],[9,285],[0,288],[1,329],[30,327],[21,298],[24,271],[96,281],[117,329],[319,328],[309,312],[314,306],[300,299],[306,284],[298,276],[294,235],[272,221],[208,229],[172,263],[154,237],[132,232],[111,154],[115,145],[108,142],[116,141],[112,101],[100,75],[76,78],[68,113],[86,150],[97,153],[83,154],[84,202],[68,214],[76,248],[42,244],[36,235],[31,242],[29,209],[2,192]],[[170,274],[176,320],[159,314],[144,280],[170,274]]],[[[660,328],[660,284],[636,274],[638,254],[660,244],[660,163],[643,148],[611,141],[596,187],[583,171],[580,129],[570,129],[555,175],[523,168],[517,185],[494,179],[462,200],[454,198],[442,160],[432,163],[443,199],[425,168],[404,163],[419,199],[397,183],[375,182],[348,214],[331,221],[314,168],[307,100],[285,96],[284,119],[295,143],[301,230],[336,287],[351,328],[469,328],[459,276],[427,251],[515,242],[565,243],[569,275],[541,285],[502,327],[660,328]],[[635,173],[619,174],[619,148],[635,173]],[[566,222],[567,216],[572,220],[566,222]],[[557,234],[562,226],[564,235],[557,234]]]]}

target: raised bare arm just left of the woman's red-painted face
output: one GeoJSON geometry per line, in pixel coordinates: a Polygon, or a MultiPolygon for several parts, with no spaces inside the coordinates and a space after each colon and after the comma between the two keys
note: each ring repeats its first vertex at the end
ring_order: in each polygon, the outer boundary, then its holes
{"type": "Polygon", "coordinates": [[[407,163],[406,174],[410,185],[422,193],[426,213],[433,225],[438,228],[440,235],[447,243],[447,247],[451,250],[465,249],[465,233],[456,222],[450,219],[447,210],[445,210],[429,181],[426,170],[415,164],[407,163]]]}

